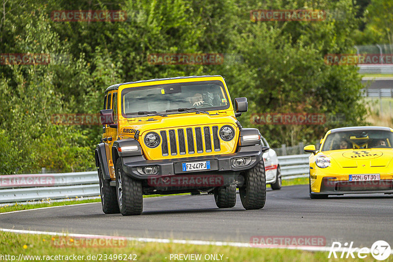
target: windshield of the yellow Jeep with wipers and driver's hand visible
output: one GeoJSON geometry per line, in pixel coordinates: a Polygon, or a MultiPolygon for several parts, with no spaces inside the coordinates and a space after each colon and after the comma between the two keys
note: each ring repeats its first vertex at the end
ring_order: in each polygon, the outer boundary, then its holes
{"type": "Polygon", "coordinates": [[[121,92],[121,105],[124,117],[136,117],[137,114],[130,113],[140,111],[169,114],[179,113],[178,108],[209,111],[229,107],[224,83],[218,80],[125,88],[121,92]]]}

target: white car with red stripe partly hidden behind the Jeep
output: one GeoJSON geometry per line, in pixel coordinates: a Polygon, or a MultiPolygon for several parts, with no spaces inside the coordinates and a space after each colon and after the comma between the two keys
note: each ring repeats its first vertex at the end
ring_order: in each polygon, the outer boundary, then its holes
{"type": "Polygon", "coordinates": [[[265,163],[266,184],[270,184],[273,190],[281,189],[281,169],[276,151],[270,148],[263,136],[261,136],[261,144],[269,148],[262,154],[265,163]]]}

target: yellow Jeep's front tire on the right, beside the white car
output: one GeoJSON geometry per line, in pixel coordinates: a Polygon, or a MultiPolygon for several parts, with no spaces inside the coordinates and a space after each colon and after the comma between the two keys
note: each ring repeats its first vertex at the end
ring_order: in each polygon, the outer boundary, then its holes
{"type": "Polygon", "coordinates": [[[239,187],[240,200],[246,210],[262,209],[266,202],[266,176],[263,160],[245,171],[244,184],[239,187]]]}

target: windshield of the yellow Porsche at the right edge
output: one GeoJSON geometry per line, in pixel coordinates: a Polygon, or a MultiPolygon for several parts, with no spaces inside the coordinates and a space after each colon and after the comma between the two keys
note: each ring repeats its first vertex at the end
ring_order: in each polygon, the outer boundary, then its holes
{"type": "Polygon", "coordinates": [[[322,151],[392,148],[393,132],[381,130],[341,131],[329,134],[323,143],[322,151]]]}

